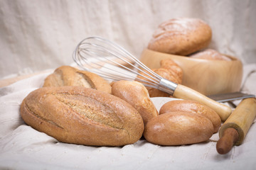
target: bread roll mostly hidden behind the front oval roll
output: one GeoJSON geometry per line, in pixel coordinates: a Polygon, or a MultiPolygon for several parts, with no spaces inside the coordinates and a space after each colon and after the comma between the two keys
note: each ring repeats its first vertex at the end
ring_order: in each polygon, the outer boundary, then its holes
{"type": "Polygon", "coordinates": [[[208,106],[197,101],[169,101],[161,106],[159,114],[170,112],[188,112],[203,115],[213,123],[213,132],[218,132],[221,124],[220,116],[208,106]]]}

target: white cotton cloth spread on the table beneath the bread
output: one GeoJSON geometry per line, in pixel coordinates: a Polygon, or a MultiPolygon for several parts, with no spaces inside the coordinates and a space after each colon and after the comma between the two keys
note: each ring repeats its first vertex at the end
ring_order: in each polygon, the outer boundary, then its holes
{"type": "MultiPolygon", "coordinates": [[[[242,88],[253,92],[255,64],[245,66],[242,88]],[[252,89],[251,89],[252,88],[252,89]]],[[[255,169],[256,125],[242,145],[225,155],[216,151],[218,133],[208,142],[161,147],[141,139],[124,147],[88,147],[58,142],[26,125],[20,105],[43,86],[49,73],[38,74],[0,89],[0,169],[255,169]]],[[[172,98],[151,98],[159,110],[172,98]]]]}

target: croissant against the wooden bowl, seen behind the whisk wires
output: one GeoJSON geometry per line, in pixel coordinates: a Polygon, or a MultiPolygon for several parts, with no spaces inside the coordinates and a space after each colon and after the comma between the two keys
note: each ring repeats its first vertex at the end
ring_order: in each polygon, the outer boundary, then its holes
{"type": "MultiPolygon", "coordinates": [[[[173,60],[171,59],[164,59],[160,61],[160,68],[152,69],[156,74],[163,77],[164,79],[168,79],[169,81],[173,81],[176,84],[182,83],[183,78],[183,71],[181,67],[178,66],[173,60]]],[[[146,74],[142,73],[144,77],[149,77],[146,74]]],[[[145,79],[144,77],[138,76],[141,79],[145,79]]],[[[150,97],[169,97],[170,94],[167,94],[164,91],[160,91],[159,89],[155,89],[152,87],[146,87],[149,91],[150,97]]]]}

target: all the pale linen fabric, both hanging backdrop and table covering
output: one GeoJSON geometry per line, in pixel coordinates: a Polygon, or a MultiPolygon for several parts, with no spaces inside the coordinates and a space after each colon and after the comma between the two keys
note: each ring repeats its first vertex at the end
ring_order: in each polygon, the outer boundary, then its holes
{"type": "MultiPolygon", "coordinates": [[[[0,88],[0,169],[255,169],[255,120],[242,145],[220,155],[218,133],[177,147],[143,139],[124,147],[65,144],[26,125],[19,111],[48,74],[73,63],[82,39],[99,35],[139,57],[156,27],[177,17],[206,21],[209,47],[242,60],[241,91],[256,95],[255,8],[254,0],[0,0],[0,79],[40,72],[0,88]]],[[[159,109],[174,98],[151,99],[159,109]]]]}

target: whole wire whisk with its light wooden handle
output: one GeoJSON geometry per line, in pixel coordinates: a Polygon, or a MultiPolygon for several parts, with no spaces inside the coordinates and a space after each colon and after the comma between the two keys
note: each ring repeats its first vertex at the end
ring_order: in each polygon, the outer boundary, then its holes
{"type": "Polygon", "coordinates": [[[110,40],[100,37],[85,38],[75,48],[73,60],[81,69],[98,74],[107,80],[136,80],[144,86],[159,89],[175,98],[203,103],[213,108],[220,115],[221,120],[226,120],[231,113],[230,107],[213,101],[198,91],[159,76],[140,62],[137,57],[110,40]]]}

